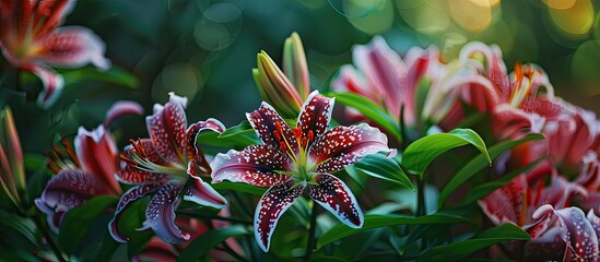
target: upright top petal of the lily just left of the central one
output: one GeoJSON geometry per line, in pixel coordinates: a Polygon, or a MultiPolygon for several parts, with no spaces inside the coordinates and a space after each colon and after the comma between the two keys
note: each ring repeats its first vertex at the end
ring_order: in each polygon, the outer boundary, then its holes
{"type": "Polygon", "coordinates": [[[177,159],[186,150],[186,103],[187,98],[169,93],[169,102],[164,107],[155,105],[154,114],[145,119],[154,150],[165,162],[177,159]]]}

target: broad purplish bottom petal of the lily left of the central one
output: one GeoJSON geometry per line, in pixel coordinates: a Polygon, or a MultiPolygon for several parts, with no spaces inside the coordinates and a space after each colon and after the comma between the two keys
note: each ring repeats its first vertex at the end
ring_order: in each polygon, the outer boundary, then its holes
{"type": "Polygon", "coordinates": [[[145,210],[146,224],[156,236],[169,243],[180,243],[190,238],[189,234],[181,233],[175,225],[175,209],[179,205],[180,189],[175,183],[161,187],[145,210]]]}

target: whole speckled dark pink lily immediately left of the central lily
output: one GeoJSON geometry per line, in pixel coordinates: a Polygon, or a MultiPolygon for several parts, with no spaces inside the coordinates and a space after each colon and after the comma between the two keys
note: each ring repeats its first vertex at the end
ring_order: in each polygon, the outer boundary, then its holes
{"type": "Polygon", "coordinates": [[[134,186],[122,193],[108,225],[110,235],[119,242],[128,240],[118,233],[120,213],[145,195],[154,194],[145,212],[143,229],[152,228],[169,243],[190,238],[188,233],[181,233],[174,223],[180,192],[185,193],[184,200],[204,206],[221,209],[227,203],[225,198],[199,177],[208,176],[211,171],[196,142],[200,131],[221,133],[223,124],[216,119],[208,119],[188,128],[185,112],[187,98],[173,93],[169,96],[168,103],[164,106],[154,105],[154,114],[146,117],[150,139],[131,141],[131,145],[120,155],[127,166],[116,172],[117,179],[134,186]]]}

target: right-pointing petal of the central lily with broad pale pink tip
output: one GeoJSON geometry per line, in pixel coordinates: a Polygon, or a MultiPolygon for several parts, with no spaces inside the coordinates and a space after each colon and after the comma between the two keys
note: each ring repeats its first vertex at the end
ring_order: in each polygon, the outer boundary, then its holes
{"type": "Polygon", "coordinates": [[[368,154],[390,151],[388,139],[366,123],[336,127],[328,130],[310,148],[310,157],[317,165],[315,172],[333,172],[352,165],[368,154]]]}

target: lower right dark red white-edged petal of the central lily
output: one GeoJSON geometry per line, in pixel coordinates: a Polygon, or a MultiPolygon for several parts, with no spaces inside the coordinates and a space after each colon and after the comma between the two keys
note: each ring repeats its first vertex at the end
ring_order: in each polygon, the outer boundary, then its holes
{"type": "Polygon", "coordinates": [[[306,192],[315,202],[331,212],[340,222],[352,228],[361,228],[363,211],[345,183],[329,174],[315,176],[317,184],[306,186],[306,192]]]}

